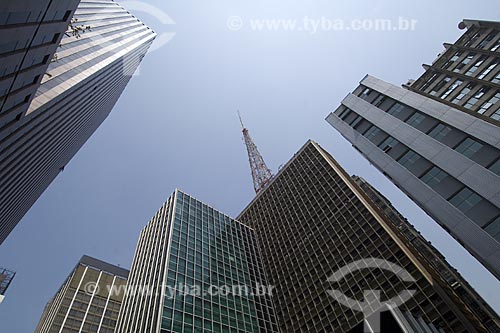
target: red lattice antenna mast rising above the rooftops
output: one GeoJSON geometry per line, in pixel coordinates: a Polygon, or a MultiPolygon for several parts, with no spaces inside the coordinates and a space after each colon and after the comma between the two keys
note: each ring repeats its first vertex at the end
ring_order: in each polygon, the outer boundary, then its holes
{"type": "Polygon", "coordinates": [[[273,175],[264,162],[262,155],[259,153],[257,146],[250,137],[248,129],[246,129],[245,125],[243,125],[240,111],[238,111],[238,117],[241,123],[243,140],[245,141],[245,145],[247,147],[248,162],[250,163],[250,170],[252,171],[253,188],[255,193],[258,194],[264,187],[266,187],[273,175]]]}

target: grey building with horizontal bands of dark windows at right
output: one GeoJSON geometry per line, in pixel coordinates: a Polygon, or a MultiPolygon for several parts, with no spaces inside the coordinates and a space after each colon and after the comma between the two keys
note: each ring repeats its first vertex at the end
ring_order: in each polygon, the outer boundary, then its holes
{"type": "Polygon", "coordinates": [[[360,84],[327,121],[500,278],[500,128],[372,76],[360,84]]]}

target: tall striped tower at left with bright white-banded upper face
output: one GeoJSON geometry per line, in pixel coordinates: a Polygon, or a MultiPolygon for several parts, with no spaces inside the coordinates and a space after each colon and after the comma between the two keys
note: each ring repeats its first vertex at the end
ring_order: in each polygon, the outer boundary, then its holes
{"type": "Polygon", "coordinates": [[[28,110],[0,129],[0,243],[107,117],[155,38],[112,0],[81,1],[72,22],[57,53],[44,53],[53,60],[28,110]]]}

